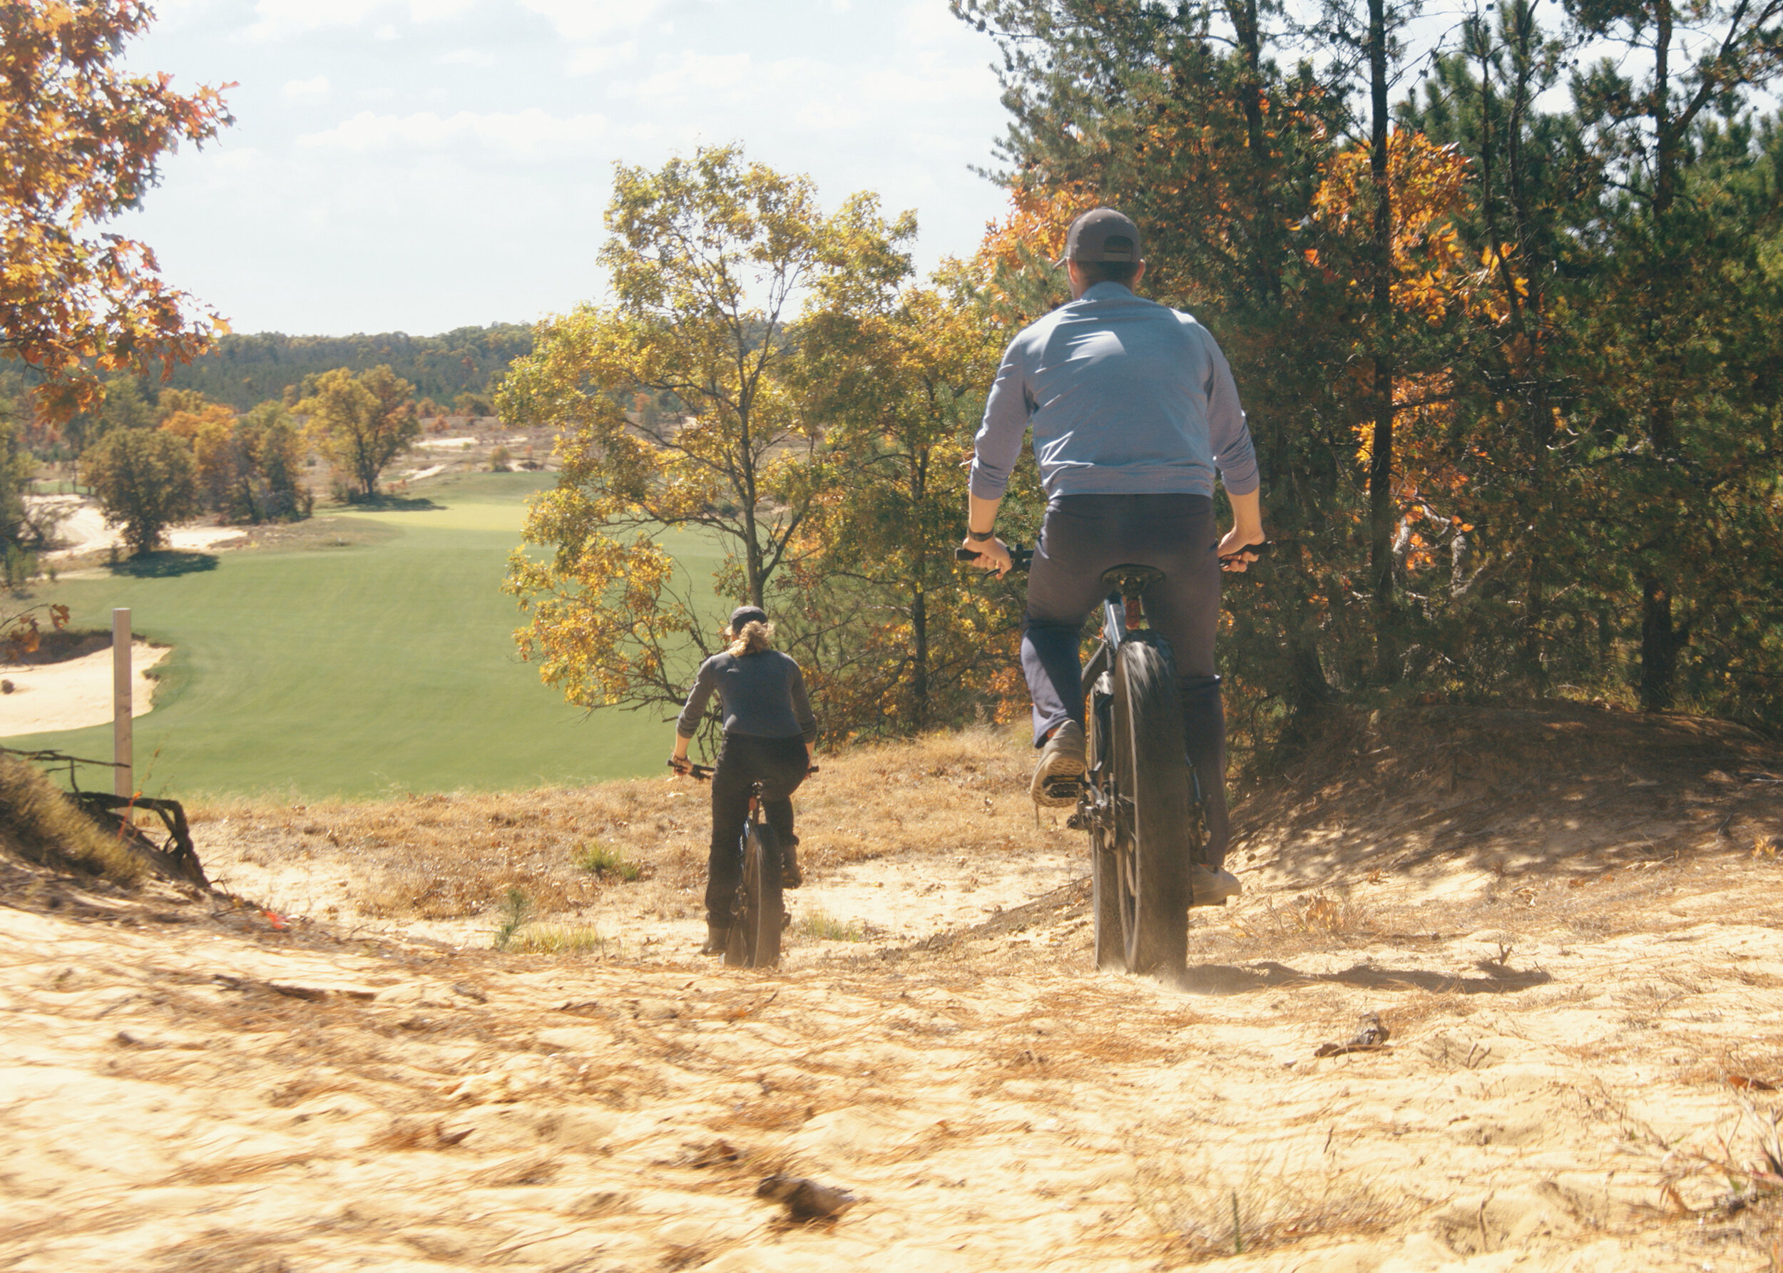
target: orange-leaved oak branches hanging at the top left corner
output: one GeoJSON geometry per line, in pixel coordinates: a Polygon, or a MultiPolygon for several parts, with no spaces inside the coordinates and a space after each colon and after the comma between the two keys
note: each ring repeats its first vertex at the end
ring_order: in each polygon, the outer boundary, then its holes
{"type": "Polygon", "coordinates": [[[119,68],[152,18],[141,0],[0,4],[0,353],[37,369],[57,419],[98,405],[102,371],[166,374],[226,330],[148,244],[102,228],[162,155],[232,123],[232,86],[178,93],[119,68]]]}

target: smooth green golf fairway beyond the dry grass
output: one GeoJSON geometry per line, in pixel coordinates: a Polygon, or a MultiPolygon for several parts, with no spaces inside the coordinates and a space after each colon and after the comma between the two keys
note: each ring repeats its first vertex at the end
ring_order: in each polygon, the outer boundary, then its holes
{"type": "MultiPolygon", "coordinates": [[[[549,474],[430,485],[440,508],[353,513],[346,538],[219,553],[171,578],[84,578],[43,588],[80,628],[130,606],[173,645],[155,710],[136,722],[150,795],[269,792],[308,799],[515,788],[651,774],[672,743],[663,711],[585,717],[521,663],[501,594],[524,499],[549,474]]],[[[719,554],[678,540],[695,578],[719,554]]],[[[111,726],[5,738],[107,760],[111,726]]],[[[98,774],[93,786],[103,786],[98,774]]]]}

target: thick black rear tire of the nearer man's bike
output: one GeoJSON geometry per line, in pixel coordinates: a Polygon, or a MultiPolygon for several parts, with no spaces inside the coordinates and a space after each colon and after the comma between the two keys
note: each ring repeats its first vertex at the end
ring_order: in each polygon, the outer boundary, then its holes
{"type": "Polygon", "coordinates": [[[1109,733],[1120,795],[1114,891],[1127,972],[1180,973],[1189,950],[1195,849],[1189,767],[1182,756],[1177,672],[1168,647],[1152,635],[1136,635],[1120,647],[1109,733]]]}

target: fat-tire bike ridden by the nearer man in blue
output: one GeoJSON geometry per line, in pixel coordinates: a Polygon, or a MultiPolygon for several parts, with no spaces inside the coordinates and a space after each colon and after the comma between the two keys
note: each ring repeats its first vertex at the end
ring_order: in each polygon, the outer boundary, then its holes
{"type": "MultiPolygon", "coordinates": [[[[1262,556],[1268,547],[1239,551],[1262,556]]],[[[1023,571],[1034,560],[1020,546],[1009,556],[1023,571]]],[[[1082,678],[1088,781],[1054,779],[1047,793],[1075,795],[1066,825],[1089,833],[1097,968],[1170,977],[1187,966],[1191,872],[1205,865],[1207,815],[1184,749],[1170,642],[1143,626],[1145,597],[1163,579],[1150,565],[1102,572],[1102,640],[1082,678]]]]}

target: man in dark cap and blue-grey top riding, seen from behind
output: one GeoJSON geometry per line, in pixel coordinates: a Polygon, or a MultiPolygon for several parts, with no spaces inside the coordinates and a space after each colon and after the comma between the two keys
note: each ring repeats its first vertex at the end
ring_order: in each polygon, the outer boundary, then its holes
{"type": "Polygon", "coordinates": [[[1257,458],[1225,355],[1200,323],[1134,296],[1145,276],[1139,228],[1114,209],[1072,223],[1064,244],[1072,301],[1023,328],[1004,351],[974,444],[965,547],[1006,574],[993,533],[1022,437],[1047,489],[1047,517],[1027,585],[1022,672],[1043,749],[1031,795],[1073,804],[1048,783],[1082,781],[1084,695],[1079,642],[1113,565],[1152,565],[1164,579],[1146,597],[1170,642],[1182,697],[1184,747],[1202,779],[1207,863],[1193,872],[1195,904],[1237,895],[1227,849],[1225,711],[1214,672],[1220,571],[1243,571],[1264,542],[1257,458]],[[1214,471],[1232,503],[1232,530],[1214,522],[1214,471]]]}

